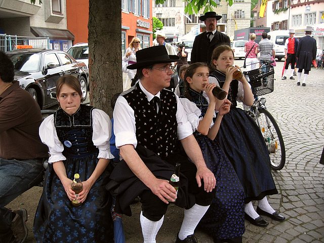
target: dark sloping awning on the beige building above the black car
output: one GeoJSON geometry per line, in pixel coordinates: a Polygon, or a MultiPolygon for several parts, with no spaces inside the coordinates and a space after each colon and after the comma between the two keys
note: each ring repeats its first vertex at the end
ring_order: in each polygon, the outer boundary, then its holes
{"type": "Polygon", "coordinates": [[[30,27],[30,31],[36,37],[50,37],[50,39],[68,39],[74,41],[74,35],[67,29],[30,27]]]}

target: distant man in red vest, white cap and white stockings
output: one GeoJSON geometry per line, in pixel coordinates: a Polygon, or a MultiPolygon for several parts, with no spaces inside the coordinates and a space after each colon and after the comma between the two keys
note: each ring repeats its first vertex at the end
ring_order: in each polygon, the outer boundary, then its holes
{"type": "Polygon", "coordinates": [[[298,39],[294,37],[295,30],[289,30],[289,38],[286,39],[285,43],[285,59],[286,59],[286,66],[284,71],[284,76],[282,76],[282,80],[287,79],[287,76],[290,75],[290,79],[295,79],[293,77],[293,72],[296,63],[296,52],[298,48],[298,39]],[[288,71],[289,64],[291,64],[291,72],[288,71]]]}

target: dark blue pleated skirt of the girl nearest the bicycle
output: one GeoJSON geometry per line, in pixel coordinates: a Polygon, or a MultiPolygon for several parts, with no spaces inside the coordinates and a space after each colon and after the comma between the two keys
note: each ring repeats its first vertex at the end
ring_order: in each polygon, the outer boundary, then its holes
{"type": "Polygon", "coordinates": [[[244,188],[245,203],[278,193],[261,131],[244,110],[231,107],[222,119],[216,140],[244,188]]]}

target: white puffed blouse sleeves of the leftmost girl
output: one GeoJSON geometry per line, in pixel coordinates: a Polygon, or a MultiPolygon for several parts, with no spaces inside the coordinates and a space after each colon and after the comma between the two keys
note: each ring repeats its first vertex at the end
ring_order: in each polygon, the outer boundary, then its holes
{"type": "MultiPolygon", "coordinates": [[[[109,116],[103,110],[92,110],[92,128],[92,141],[99,149],[98,158],[114,158],[110,152],[109,143],[111,135],[111,121],[109,116]]],[[[54,115],[50,115],[44,119],[43,123],[39,127],[39,137],[41,137],[42,142],[49,147],[51,154],[49,163],[66,160],[66,157],[62,154],[64,150],[63,144],[56,133],[54,115]]]]}

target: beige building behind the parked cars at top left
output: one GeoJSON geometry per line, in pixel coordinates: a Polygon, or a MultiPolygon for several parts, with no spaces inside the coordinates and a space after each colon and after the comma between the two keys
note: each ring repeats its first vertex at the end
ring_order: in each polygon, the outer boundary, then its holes
{"type": "MultiPolygon", "coordinates": [[[[0,0],[0,34],[49,37],[55,50],[67,51],[74,35],[67,30],[65,0],[0,0]]],[[[28,38],[16,45],[29,45],[28,38]]],[[[32,45],[31,45],[32,46],[32,45]]]]}

